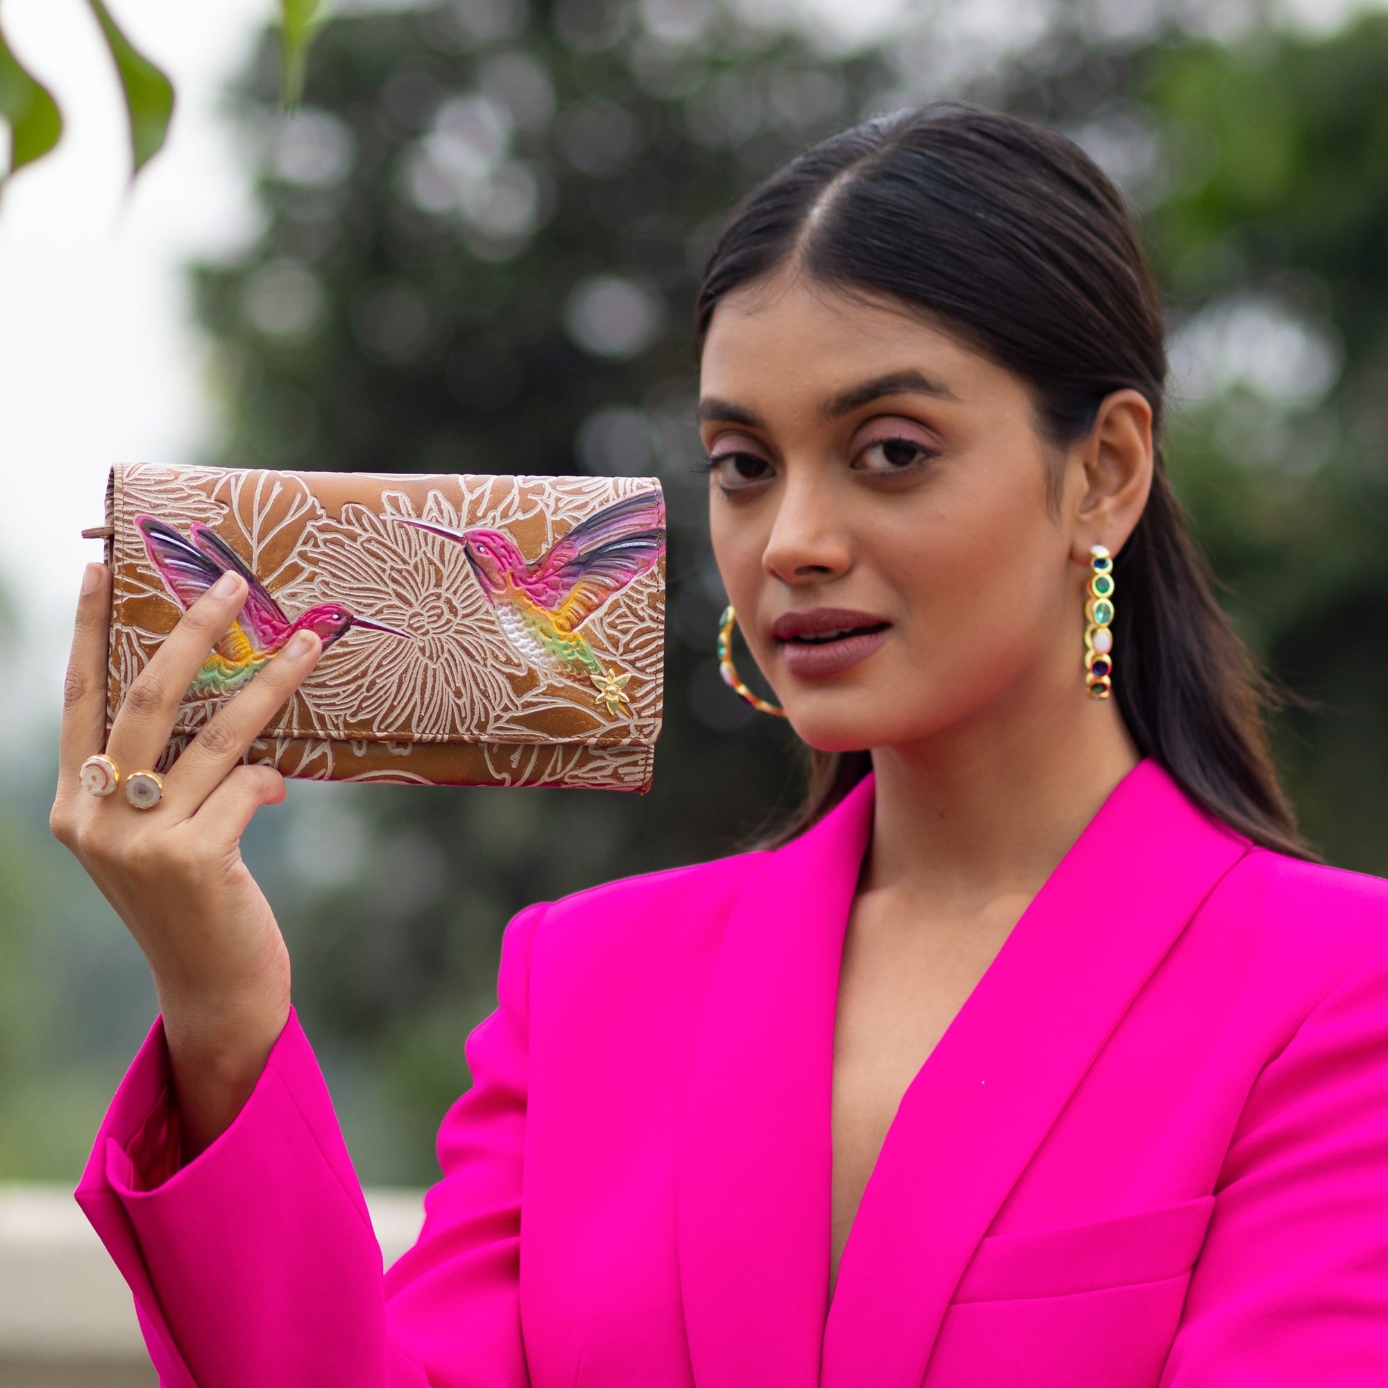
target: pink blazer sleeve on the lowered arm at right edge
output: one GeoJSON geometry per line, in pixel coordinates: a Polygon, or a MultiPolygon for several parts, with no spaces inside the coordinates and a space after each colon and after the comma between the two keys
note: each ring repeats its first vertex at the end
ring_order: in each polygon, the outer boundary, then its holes
{"type": "Polygon", "coordinates": [[[1160,1388],[1388,1384],[1388,954],[1253,1085],[1160,1388]]]}

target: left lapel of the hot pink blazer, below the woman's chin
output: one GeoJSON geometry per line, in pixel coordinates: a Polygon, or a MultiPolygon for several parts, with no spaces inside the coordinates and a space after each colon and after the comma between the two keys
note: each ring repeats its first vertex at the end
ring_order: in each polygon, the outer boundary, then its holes
{"type": "Polygon", "coordinates": [[[700,1388],[815,1388],[829,1298],[834,1006],[872,777],[769,854],[695,1037],[679,1262],[700,1388]]]}

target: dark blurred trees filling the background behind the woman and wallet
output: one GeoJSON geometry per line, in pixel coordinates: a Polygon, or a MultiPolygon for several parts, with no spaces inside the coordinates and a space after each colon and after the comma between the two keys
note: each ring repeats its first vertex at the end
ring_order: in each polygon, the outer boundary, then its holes
{"type": "MultiPolygon", "coordinates": [[[[264,223],[194,269],[211,461],[657,473],[669,498],[648,797],[294,786],[287,831],[253,826],[369,1181],[430,1178],[511,913],[734,851],[795,794],[787,730],[716,675],[690,318],[736,198],[874,111],[1037,117],[1128,192],[1169,301],[1173,475],[1235,620],[1307,701],[1277,730],[1288,786],[1330,861],[1388,872],[1388,19],[905,12],[844,53],[751,0],[440,0],[333,19],[291,115],[272,35],[230,93],[264,223]]],[[[0,1105],[4,1084],[0,1062],[0,1105]]]]}

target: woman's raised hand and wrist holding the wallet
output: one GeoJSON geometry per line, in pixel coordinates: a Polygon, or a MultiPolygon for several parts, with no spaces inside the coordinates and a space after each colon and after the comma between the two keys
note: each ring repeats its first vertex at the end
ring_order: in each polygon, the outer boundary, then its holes
{"type": "MultiPolygon", "coordinates": [[[[244,579],[223,573],[130,684],[104,748],[122,777],[154,766],[185,690],[244,598],[244,579]]],[[[285,779],[242,755],[322,647],[311,632],[291,637],[189,744],[162,799],[140,811],[124,783],[97,797],[79,780],[82,762],[103,751],[110,620],[111,575],[93,564],[78,601],[50,824],[149,960],[189,1159],[240,1112],[289,1016],[289,954],[240,852],[255,811],[285,798],[285,779]]]]}

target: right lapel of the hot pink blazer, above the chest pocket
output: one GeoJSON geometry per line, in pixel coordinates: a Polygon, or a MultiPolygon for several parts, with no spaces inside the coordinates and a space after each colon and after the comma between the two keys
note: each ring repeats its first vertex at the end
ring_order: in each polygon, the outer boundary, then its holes
{"type": "MultiPolygon", "coordinates": [[[[1117,786],[901,1102],[840,1266],[824,1388],[917,1388],[949,1298],[1008,1192],[1138,990],[1246,849],[1155,762],[1117,786]]],[[[815,1005],[829,1009],[818,992],[815,1005]]],[[[813,1074],[827,1087],[818,1056],[813,1074]]]]}

